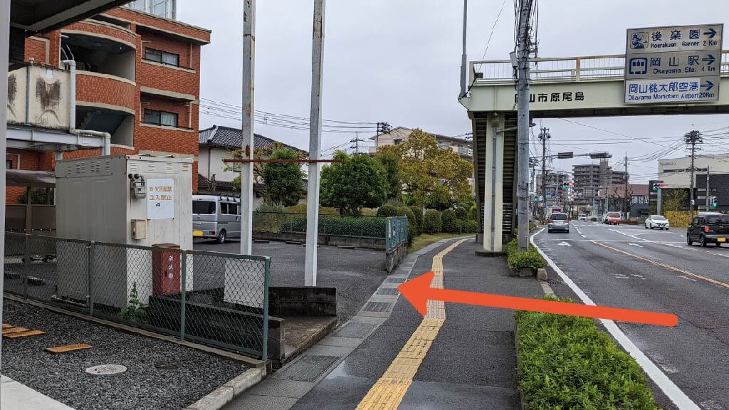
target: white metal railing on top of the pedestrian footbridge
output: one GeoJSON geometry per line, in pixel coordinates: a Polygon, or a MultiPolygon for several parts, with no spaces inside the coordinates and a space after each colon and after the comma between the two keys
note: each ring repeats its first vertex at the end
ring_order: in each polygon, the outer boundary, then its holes
{"type": "MultiPolygon", "coordinates": [[[[625,55],[589,55],[566,58],[531,58],[529,78],[539,82],[580,82],[622,80],[625,55]]],[[[721,75],[729,76],[729,50],[722,51],[721,75]]],[[[510,60],[471,62],[471,83],[508,83],[514,80],[510,60]]]]}

